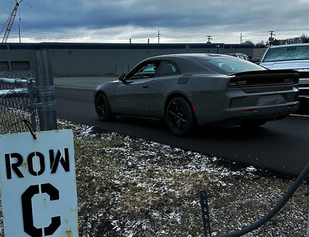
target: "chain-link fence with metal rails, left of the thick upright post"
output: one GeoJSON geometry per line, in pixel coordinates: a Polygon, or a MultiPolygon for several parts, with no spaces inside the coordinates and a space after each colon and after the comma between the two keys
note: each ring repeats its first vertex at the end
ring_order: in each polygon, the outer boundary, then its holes
{"type": "Polygon", "coordinates": [[[31,71],[3,71],[0,73],[0,134],[39,131],[37,109],[31,108],[35,103],[35,80],[31,71]]]}

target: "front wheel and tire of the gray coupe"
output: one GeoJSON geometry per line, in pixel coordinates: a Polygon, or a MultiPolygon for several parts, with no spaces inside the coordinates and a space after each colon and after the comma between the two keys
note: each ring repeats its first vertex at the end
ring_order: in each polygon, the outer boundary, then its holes
{"type": "Polygon", "coordinates": [[[116,118],[112,113],[107,97],[103,93],[100,93],[95,99],[95,112],[97,113],[98,118],[104,122],[116,118]]]}

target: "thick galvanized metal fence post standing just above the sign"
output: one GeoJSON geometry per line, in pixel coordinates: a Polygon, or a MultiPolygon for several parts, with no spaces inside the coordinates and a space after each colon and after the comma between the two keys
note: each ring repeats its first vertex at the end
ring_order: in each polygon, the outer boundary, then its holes
{"type": "Polygon", "coordinates": [[[34,53],[40,131],[54,130],[57,129],[57,115],[50,51],[36,50],[34,53]]]}

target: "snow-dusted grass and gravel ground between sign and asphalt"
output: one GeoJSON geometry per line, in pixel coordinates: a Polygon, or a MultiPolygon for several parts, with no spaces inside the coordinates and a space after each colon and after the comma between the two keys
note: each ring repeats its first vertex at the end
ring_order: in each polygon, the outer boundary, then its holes
{"type": "MultiPolygon", "coordinates": [[[[255,167],[58,120],[74,131],[80,236],[203,236],[199,191],[213,235],[263,217],[293,183],[255,167]]],[[[277,215],[246,236],[305,236],[304,182],[277,215]]]]}

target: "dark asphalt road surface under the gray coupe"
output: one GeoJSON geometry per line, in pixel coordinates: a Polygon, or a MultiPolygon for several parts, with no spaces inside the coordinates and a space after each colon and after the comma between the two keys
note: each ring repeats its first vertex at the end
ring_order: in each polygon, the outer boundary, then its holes
{"type": "Polygon", "coordinates": [[[180,138],[172,136],[162,122],[125,117],[99,121],[91,90],[56,88],[56,99],[59,118],[126,135],[290,174],[298,174],[308,162],[308,117],[289,116],[256,131],[239,126],[200,127],[194,135],[180,138]]]}

